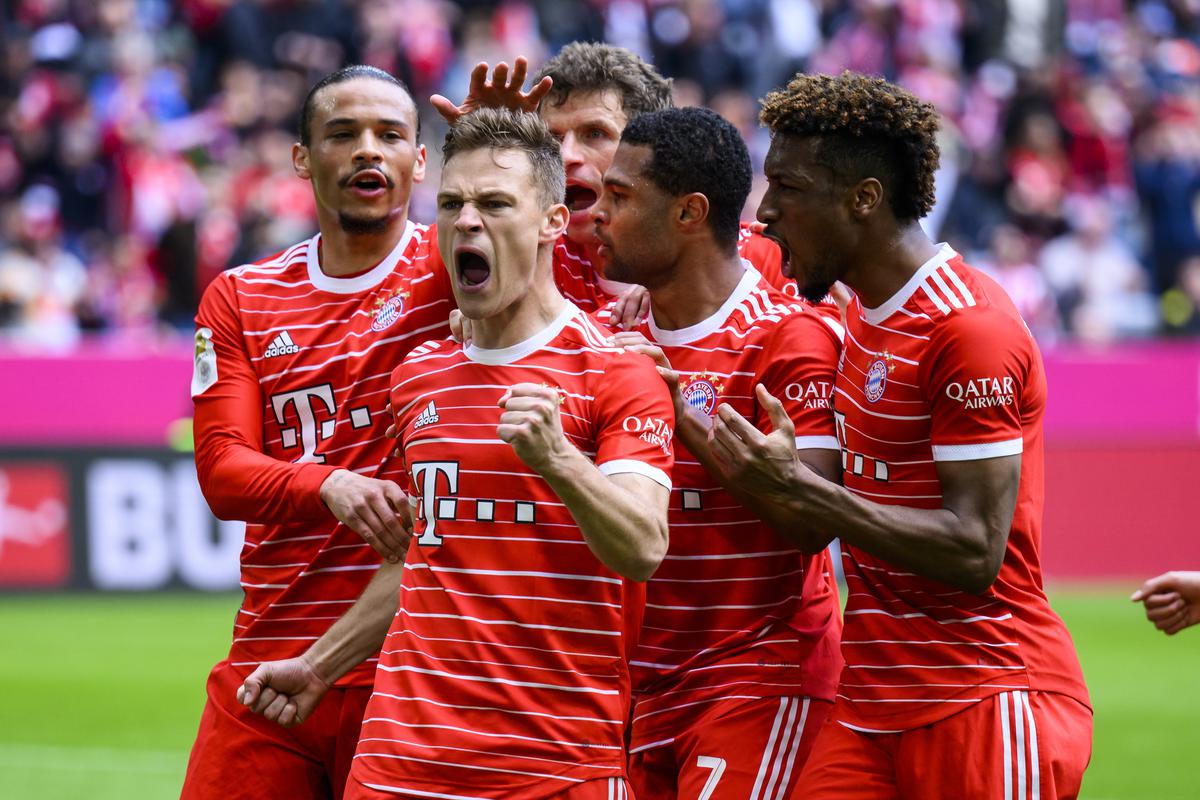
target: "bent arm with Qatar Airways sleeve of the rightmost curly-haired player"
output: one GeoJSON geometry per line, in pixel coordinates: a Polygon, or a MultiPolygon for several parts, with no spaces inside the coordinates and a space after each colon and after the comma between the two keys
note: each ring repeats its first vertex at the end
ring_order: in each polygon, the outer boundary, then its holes
{"type": "MultiPolygon", "coordinates": [[[[716,452],[730,469],[750,476],[756,494],[790,507],[797,519],[922,577],[983,593],[1004,559],[1021,480],[1021,415],[1044,398],[1039,365],[1028,331],[995,308],[961,313],[934,335],[920,380],[928,387],[940,509],[872,503],[794,462],[772,458],[762,434],[726,407],[714,423],[716,452]],[[1010,385],[1012,402],[968,410],[948,391],[984,375],[1010,385]]],[[[778,409],[766,389],[757,393],[778,409]]]]}

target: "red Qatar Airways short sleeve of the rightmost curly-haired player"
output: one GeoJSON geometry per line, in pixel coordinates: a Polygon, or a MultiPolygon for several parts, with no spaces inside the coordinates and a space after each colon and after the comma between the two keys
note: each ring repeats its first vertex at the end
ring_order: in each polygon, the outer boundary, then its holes
{"type": "Polygon", "coordinates": [[[924,359],[934,461],[1022,451],[1021,408],[1034,355],[1028,330],[995,307],[952,314],[924,359]]]}

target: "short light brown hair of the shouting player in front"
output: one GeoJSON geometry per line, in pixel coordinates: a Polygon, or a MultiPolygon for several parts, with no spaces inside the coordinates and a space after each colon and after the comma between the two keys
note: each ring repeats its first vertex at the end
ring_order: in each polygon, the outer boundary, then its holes
{"type": "Polygon", "coordinates": [[[529,158],[542,206],[562,203],[566,174],[558,139],[536,114],[505,108],[480,108],[460,116],[446,131],[442,164],[473,150],[520,150],[529,158]]]}

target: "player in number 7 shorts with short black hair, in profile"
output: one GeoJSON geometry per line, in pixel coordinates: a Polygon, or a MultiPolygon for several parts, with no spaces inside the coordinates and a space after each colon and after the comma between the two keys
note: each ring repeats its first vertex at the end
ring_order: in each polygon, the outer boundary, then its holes
{"type": "Polygon", "coordinates": [[[840,324],[739,257],[749,191],[738,130],[707,109],[668,109],[625,126],[594,210],[607,273],[652,297],[650,318],[613,342],[672,371],[676,411],[678,500],[631,660],[638,798],[749,798],[763,784],[791,796],[841,668],[828,554],[805,555],[752,498],[739,503],[708,451],[718,402],[769,428],[754,402],[761,380],[786,397],[799,457],[828,477],[839,469],[840,324]]]}

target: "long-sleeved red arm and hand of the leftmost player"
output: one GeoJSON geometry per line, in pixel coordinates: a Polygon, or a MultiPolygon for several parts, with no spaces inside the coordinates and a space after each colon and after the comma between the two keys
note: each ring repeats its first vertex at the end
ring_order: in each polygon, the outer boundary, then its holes
{"type": "Polygon", "coordinates": [[[263,452],[263,392],[232,294],[229,279],[218,278],[197,314],[196,470],[212,512],[256,523],[336,519],[380,555],[401,559],[408,537],[397,517],[400,487],[332,464],[295,464],[263,452]]]}

